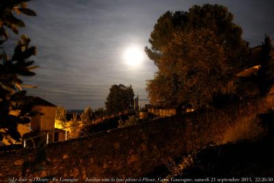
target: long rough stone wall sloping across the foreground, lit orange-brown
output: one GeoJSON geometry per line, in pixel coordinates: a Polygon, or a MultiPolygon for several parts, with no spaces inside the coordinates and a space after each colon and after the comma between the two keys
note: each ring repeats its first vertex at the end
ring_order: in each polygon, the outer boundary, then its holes
{"type": "MultiPolygon", "coordinates": [[[[29,177],[139,178],[160,167],[165,158],[179,158],[210,142],[221,142],[222,134],[240,117],[273,107],[273,98],[243,103],[239,110],[227,108],[184,117],[167,117],[149,123],[100,132],[62,143],[47,145],[42,171],[29,177]],[[240,109],[241,108],[241,109],[240,109]],[[230,113],[229,113],[230,111],[230,113]]],[[[0,154],[0,182],[21,177],[23,161],[34,153],[21,149],[0,154]]]]}

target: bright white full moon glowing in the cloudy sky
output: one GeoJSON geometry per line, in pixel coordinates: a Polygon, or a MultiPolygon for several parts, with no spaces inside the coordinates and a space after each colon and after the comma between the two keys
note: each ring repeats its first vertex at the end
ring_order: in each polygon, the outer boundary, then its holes
{"type": "Polygon", "coordinates": [[[128,47],[124,53],[125,64],[128,66],[140,66],[145,58],[144,51],[139,47],[128,47]]]}

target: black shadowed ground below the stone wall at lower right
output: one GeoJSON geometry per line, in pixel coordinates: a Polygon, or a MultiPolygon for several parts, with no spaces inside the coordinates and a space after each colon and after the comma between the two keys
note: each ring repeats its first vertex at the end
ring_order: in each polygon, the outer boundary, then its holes
{"type": "Polygon", "coordinates": [[[266,135],[236,143],[207,145],[192,151],[179,164],[172,166],[168,178],[245,177],[248,178],[245,181],[259,181],[258,178],[273,181],[273,114],[271,110],[258,115],[266,135]]]}

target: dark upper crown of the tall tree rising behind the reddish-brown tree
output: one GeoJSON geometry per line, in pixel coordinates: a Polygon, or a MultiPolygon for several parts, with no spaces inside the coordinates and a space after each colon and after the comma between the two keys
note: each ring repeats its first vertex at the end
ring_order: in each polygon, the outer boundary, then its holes
{"type": "Polygon", "coordinates": [[[249,53],[248,43],[242,40],[242,29],[233,21],[233,14],[222,5],[193,5],[188,12],[165,12],[155,23],[149,42],[151,49],[145,51],[157,65],[162,48],[173,39],[173,34],[209,29],[214,32],[219,45],[225,49],[226,62],[238,73],[245,67],[245,56],[249,53]]]}

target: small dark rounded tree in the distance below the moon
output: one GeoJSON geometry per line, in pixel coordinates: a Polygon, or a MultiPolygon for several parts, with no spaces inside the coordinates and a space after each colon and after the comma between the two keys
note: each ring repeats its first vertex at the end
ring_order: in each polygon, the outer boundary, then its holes
{"type": "Polygon", "coordinates": [[[118,114],[134,106],[134,90],[131,85],[112,85],[105,101],[105,108],[110,114],[118,114]]]}

